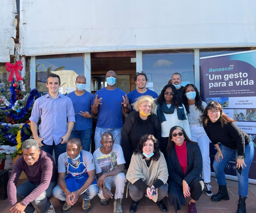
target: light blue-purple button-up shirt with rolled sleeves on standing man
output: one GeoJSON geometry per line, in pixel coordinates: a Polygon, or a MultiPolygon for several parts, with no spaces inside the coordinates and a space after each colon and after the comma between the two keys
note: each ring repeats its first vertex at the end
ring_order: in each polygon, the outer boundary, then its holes
{"type": "Polygon", "coordinates": [[[68,122],[75,122],[75,113],[72,101],[69,97],[58,94],[53,99],[49,93],[36,99],[33,105],[30,121],[38,122],[41,117],[40,136],[47,145],[53,141],[57,145],[66,135],[68,122]]]}

